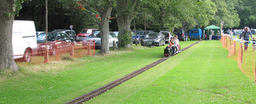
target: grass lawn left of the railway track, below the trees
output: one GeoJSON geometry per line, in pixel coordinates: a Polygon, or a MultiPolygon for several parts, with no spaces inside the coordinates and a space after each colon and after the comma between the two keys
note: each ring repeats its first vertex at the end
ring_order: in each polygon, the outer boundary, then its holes
{"type": "MultiPolygon", "coordinates": [[[[196,41],[180,42],[184,48],[196,41]]],[[[135,47],[0,72],[0,103],[64,103],[163,57],[166,46],[135,47]]],[[[97,50],[98,51],[98,50],[97,50]]]]}

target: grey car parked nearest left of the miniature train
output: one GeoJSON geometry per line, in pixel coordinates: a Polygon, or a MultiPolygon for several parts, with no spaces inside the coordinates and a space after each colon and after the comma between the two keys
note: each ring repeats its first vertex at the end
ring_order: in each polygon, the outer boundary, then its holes
{"type": "Polygon", "coordinates": [[[154,46],[165,45],[163,33],[161,32],[150,32],[146,38],[143,39],[143,43],[152,43],[154,46]]]}

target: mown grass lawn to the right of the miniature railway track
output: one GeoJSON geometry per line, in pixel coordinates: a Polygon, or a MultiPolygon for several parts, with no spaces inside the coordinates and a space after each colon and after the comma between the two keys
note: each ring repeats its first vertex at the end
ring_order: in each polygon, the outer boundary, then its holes
{"type": "Polygon", "coordinates": [[[202,41],[89,103],[256,103],[254,81],[227,55],[202,41]]]}

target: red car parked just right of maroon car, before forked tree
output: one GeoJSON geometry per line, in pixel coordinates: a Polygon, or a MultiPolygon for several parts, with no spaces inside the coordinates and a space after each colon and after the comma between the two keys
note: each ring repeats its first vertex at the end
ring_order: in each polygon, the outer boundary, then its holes
{"type": "Polygon", "coordinates": [[[99,31],[98,29],[82,29],[79,34],[76,35],[76,41],[86,40],[94,31],[99,31]]]}

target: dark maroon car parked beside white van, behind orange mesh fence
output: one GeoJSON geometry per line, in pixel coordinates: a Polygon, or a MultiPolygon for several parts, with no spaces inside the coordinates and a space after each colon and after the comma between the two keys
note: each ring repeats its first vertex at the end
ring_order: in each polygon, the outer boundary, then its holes
{"type": "MultiPolygon", "coordinates": [[[[74,39],[70,38],[68,34],[63,32],[48,32],[47,33],[47,46],[46,33],[41,33],[36,37],[36,42],[38,44],[38,52],[44,52],[46,47],[50,51],[50,55],[55,56],[57,52],[68,52],[67,50],[74,46],[74,39]],[[57,51],[58,50],[58,51],[57,51]]],[[[71,52],[70,52],[71,53],[71,52]]]]}

